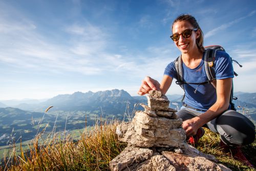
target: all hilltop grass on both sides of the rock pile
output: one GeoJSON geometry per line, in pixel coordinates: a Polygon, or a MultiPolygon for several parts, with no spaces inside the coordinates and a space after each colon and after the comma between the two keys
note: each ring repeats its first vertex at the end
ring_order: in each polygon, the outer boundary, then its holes
{"type": "MultiPolygon", "coordinates": [[[[70,134],[44,136],[44,129],[31,141],[27,150],[24,150],[21,140],[19,144],[13,142],[5,153],[0,170],[110,170],[109,162],[126,146],[117,139],[117,124],[113,120],[96,121],[93,128],[80,132],[78,140],[70,134]]],[[[214,155],[219,163],[232,170],[255,170],[225,154],[218,146],[219,141],[217,134],[205,129],[205,135],[195,147],[205,154],[214,155]]],[[[256,141],[245,146],[243,151],[256,165],[256,141]]]]}

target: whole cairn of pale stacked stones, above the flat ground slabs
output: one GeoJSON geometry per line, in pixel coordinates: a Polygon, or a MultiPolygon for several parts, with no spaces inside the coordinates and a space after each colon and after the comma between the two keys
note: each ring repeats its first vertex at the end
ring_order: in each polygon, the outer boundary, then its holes
{"type": "Polygon", "coordinates": [[[187,148],[182,119],[176,110],[169,108],[169,101],[160,91],[152,90],[147,96],[148,106],[141,104],[144,111],[137,111],[131,123],[117,126],[118,139],[129,145],[150,147],[187,148]]]}

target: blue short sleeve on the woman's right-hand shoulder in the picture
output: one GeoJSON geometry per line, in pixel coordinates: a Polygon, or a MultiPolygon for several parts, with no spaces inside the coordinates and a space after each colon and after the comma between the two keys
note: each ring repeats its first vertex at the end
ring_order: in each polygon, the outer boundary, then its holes
{"type": "Polygon", "coordinates": [[[215,73],[217,80],[234,77],[232,61],[227,53],[216,52],[215,73]]]}

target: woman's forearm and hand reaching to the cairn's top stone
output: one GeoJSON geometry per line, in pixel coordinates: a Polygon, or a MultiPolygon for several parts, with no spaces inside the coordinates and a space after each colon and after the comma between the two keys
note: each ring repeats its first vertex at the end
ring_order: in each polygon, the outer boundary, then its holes
{"type": "Polygon", "coordinates": [[[160,90],[163,94],[165,94],[169,89],[170,85],[172,84],[172,81],[173,78],[166,75],[163,76],[161,84],[157,80],[152,79],[151,77],[145,77],[142,80],[138,94],[144,95],[150,90],[160,90]]]}

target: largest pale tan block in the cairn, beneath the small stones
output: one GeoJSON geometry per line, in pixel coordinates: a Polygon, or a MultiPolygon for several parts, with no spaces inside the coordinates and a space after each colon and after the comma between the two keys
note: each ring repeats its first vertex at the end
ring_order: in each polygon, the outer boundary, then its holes
{"type": "Polygon", "coordinates": [[[138,111],[131,123],[118,125],[116,133],[120,141],[134,146],[187,148],[185,131],[181,125],[182,119],[151,117],[138,111]]]}

